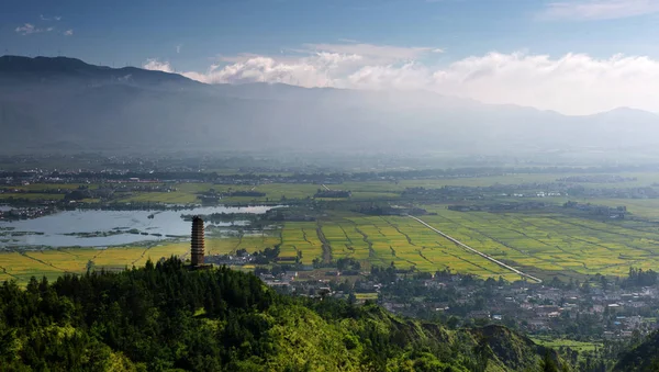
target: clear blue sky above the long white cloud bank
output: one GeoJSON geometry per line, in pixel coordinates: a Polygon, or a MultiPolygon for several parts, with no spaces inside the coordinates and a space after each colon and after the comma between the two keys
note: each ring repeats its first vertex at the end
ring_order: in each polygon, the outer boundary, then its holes
{"type": "Polygon", "coordinates": [[[659,57],[659,18],[654,12],[613,20],[544,16],[551,3],[556,1],[4,0],[0,45],[12,54],[54,55],[60,50],[104,64],[166,58],[181,69],[206,67],[216,55],[278,54],[305,43],[342,40],[443,48],[447,53],[439,61],[521,49],[659,57]],[[62,19],[55,21],[55,16],[62,19]],[[42,30],[72,30],[74,34],[22,35],[15,30],[25,23],[42,30]]]}

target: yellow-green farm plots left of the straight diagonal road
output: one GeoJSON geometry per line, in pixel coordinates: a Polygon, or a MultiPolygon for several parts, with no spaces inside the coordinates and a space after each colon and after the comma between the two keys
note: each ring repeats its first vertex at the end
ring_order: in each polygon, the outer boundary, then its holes
{"type": "Polygon", "coordinates": [[[472,273],[479,277],[520,277],[458,247],[435,232],[405,217],[345,216],[319,223],[287,223],[282,230],[282,257],[302,252],[304,263],[324,259],[323,239],[333,260],[354,258],[366,264],[416,268],[421,271],[472,273]]]}

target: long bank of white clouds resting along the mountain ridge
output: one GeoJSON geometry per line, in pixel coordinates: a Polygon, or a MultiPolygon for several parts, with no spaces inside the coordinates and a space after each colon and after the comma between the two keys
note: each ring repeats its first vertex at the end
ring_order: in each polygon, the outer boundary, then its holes
{"type": "MultiPolygon", "coordinates": [[[[182,75],[208,83],[425,89],[487,103],[520,104],[567,114],[589,114],[618,106],[659,111],[659,60],[645,56],[614,55],[597,59],[584,54],[555,58],[522,52],[490,53],[434,67],[406,60],[409,52],[398,54],[398,60],[382,63],[375,60],[372,53],[365,56],[350,48],[332,49],[346,53],[323,50],[275,57],[245,54],[222,57],[206,71],[182,75]]],[[[388,54],[388,58],[393,55],[388,54]]],[[[147,60],[144,68],[174,71],[169,63],[157,59],[147,60]]]]}

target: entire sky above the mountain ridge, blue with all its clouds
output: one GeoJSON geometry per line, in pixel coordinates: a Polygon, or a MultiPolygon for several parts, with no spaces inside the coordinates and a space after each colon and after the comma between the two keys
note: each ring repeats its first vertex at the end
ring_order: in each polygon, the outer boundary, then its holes
{"type": "Polygon", "coordinates": [[[2,0],[0,54],[659,112],[659,0],[2,0]]]}

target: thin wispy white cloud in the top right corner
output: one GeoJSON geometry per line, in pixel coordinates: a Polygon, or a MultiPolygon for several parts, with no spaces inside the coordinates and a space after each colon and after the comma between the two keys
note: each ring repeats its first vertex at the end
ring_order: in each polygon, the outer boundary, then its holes
{"type": "Polygon", "coordinates": [[[548,3],[543,19],[612,20],[659,12],[657,0],[576,0],[548,3]]]}

